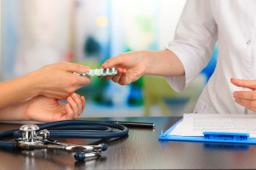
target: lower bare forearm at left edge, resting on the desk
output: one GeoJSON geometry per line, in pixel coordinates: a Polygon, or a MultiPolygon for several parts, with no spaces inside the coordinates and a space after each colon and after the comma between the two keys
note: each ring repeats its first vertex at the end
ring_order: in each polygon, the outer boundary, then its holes
{"type": "Polygon", "coordinates": [[[21,101],[15,105],[6,107],[0,111],[0,121],[26,121],[27,101],[21,101]]]}

